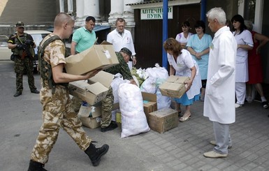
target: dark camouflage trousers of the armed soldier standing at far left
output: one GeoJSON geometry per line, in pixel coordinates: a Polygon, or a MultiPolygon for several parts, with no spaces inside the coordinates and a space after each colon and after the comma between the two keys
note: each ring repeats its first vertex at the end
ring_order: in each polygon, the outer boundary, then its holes
{"type": "Polygon", "coordinates": [[[36,87],[34,86],[33,67],[34,67],[33,61],[29,59],[29,57],[26,57],[24,59],[20,59],[20,57],[15,58],[14,71],[16,73],[17,92],[22,92],[23,90],[22,77],[24,71],[26,71],[27,73],[29,88],[31,89],[31,91],[36,89],[36,87]]]}

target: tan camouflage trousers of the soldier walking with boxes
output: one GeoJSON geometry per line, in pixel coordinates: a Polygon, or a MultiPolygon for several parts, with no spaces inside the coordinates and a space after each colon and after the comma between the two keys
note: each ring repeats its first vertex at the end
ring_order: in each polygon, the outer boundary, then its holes
{"type": "Polygon", "coordinates": [[[57,140],[59,128],[63,128],[78,144],[78,147],[85,151],[92,140],[86,135],[80,119],[71,107],[68,89],[57,85],[52,94],[52,89],[42,87],[40,100],[43,105],[43,124],[31,153],[31,160],[39,163],[48,162],[48,156],[57,140]]]}

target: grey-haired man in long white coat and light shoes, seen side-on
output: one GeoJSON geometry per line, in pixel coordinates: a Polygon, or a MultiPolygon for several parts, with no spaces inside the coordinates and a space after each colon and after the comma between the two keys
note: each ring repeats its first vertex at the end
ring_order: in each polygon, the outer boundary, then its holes
{"type": "Polygon", "coordinates": [[[212,8],[206,14],[208,27],[215,32],[208,61],[208,81],[205,90],[203,115],[213,122],[215,145],[213,151],[203,154],[209,158],[228,156],[231,148],[229,124],[235,122],[235,59],[237,43],[229,27],[226,13],[221,8],[212,8]]]}

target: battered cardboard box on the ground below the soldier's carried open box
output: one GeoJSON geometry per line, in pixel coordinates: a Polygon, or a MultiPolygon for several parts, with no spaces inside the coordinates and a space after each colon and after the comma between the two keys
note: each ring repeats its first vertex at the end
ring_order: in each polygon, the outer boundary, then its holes
{"type": "Polygon", "coordinates": [[[101,107],[81,106],[78,117],[83,126],[98,128],[101,125],[101,107]]]}

